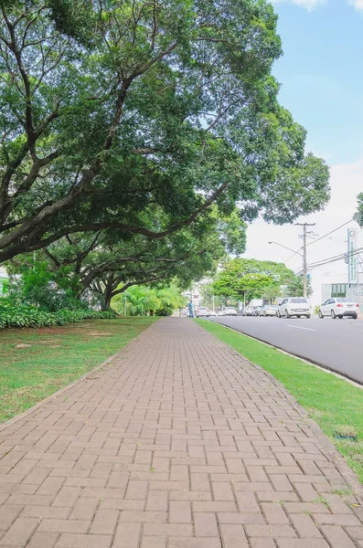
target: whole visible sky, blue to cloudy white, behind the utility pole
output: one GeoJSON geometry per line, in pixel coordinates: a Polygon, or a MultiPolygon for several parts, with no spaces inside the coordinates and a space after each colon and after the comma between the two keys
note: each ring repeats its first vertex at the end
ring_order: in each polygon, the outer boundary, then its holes
{"type": "MultiPolygon", "coordinates": [[[[317,239],[352,218],[363,192],[363,0],[279,1],[274,8],[284,52],[273,68],[282,85],[280,102],[307,130],[306,150],[330,166],[330,202],[323,212],[298,219],[315,223],[317,239]]],[[[314,236],[309,239],[308,264],[344,253],[347,227],[358,226],[352,221],[316,243],[314,236]]],[[[301,227],[258,219],[248,229],[245,256],[285,262],[292,252],[268,242],[299,249],[300,233],[301,227]]],[[[363,246],[359,228],[358,246],[363,246]]],[[[301,264],[299,255],[286,262],[294,270],[301,264]]],[[[321,302],[322,283],[347,282],[343,260],[310,273],[314,304],[321,302]]]]}

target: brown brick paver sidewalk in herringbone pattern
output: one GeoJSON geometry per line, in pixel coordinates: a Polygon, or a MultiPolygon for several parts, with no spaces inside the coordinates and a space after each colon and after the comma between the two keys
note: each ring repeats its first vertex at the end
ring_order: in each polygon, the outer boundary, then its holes
{"type": "Polygon", "coordinates": [[[2,547],[363,547],[324,437],[188,319],[7,425],[0,454],[2,547]]]}

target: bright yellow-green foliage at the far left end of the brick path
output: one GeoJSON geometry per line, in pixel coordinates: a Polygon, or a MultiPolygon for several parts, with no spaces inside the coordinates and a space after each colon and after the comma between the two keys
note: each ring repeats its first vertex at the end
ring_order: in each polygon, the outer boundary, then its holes
{"type": "Polygon", "coordinates": [[[175,284],[170,286],[150,289],[145,286],[133,286],[118,294],[112,300],[112,308],[119,314],[126,313],[130,316],[170,316],[173,311],[186,305],[186,299],[180,295],[180,290],[175,284]]]}

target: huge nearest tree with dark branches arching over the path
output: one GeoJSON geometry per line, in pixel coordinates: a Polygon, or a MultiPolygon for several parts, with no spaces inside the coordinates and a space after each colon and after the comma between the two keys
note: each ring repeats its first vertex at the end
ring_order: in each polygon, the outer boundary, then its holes
{"type": "Polygon", "coordinates": [[[0,7],[0,262],[82,231],[162,238],[212,203],[277,223],[326,203],[277,101],[269,2],[0,7]]]}

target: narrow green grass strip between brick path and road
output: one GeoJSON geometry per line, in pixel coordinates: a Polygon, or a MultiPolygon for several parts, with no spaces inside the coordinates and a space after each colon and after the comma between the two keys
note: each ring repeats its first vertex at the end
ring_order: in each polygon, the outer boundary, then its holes
{"type": "Polygon", "coordinates": [[[283,383],[347,458],[363,483],[363,389],[218,323],[196,321],[283,383]],[[358,441],[337,439],[336,432],[356,436],[358,441]]]}

